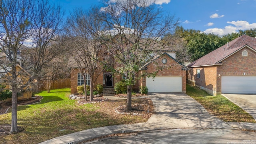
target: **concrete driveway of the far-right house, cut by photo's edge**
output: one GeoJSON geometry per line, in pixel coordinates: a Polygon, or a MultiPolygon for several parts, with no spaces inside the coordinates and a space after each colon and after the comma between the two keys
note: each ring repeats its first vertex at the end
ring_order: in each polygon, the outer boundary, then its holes
{"type": "Polygon", "coordinates": [[[248,112],[256,120],[256,95],[253,94],[222,94],[231,102],[248,112]]]}

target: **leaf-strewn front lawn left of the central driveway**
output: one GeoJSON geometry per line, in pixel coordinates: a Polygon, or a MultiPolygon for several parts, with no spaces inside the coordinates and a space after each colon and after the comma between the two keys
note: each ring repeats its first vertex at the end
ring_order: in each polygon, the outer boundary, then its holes
{"type": "MultiPolygon", "coordinates": [[[[118,115],[114,108],[125,105],[125,100],[78,104],[69,100],[70,88],[41,92],[42,102],[18,106],[18,126],[22,132],[0,136],[1,144],[37,144],[58,136],[90,128],[146,122],[149,116],[118,115]]],[[[132,104],[149,102],[133,100],[132,104]]],[[[11,124],[11,110],[0,115],[0,126],[11,124]]]]}

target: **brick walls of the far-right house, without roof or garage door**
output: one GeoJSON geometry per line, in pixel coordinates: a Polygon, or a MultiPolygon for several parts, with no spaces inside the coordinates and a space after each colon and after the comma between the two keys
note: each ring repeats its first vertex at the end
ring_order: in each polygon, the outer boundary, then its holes
{"type": "Polygon", "coordinates": [[[188,80],[195,85],[205,88],[212,94],[221,94],[221,76],[241,76],[244,72],[248,76],[256,76],[256,53],[250,48],[243,48],[230,57],[222,61],[222,66],[204,66],[200,67],[200,78],[196,78],[196,69],[191,68],[188,71],[188,80]],[[248,56],[243,57],[242,52],[247,50],[248,56]],[[220,78],[218,77],[220,74],[220,78]],[[216,93],[211,93],[213,91],[216,93]]]}

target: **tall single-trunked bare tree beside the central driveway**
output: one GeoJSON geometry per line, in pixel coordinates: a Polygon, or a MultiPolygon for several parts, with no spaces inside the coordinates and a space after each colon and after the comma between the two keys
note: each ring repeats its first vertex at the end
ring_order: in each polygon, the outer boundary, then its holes
{"type": "Polygon", "coordinates": [[[109,51],[117,64],[116,72],[126,77],[127,110],[132,109],[132,84],[139,69],[162,50],[170,50],[162,38],[172,33],[178,19],[164,15],[151,0],[105,0],[100,18],[111,36],[109,51]]]}

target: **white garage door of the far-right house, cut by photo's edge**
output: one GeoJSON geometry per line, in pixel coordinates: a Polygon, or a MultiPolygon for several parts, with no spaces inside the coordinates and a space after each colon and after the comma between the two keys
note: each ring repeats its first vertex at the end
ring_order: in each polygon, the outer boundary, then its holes
{"type": "Polygon", "coordinates": [[[221,92],[254,94],[256,93],[256,76],[221,76],[221,92]]]}

